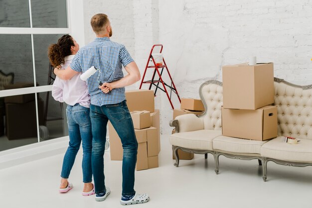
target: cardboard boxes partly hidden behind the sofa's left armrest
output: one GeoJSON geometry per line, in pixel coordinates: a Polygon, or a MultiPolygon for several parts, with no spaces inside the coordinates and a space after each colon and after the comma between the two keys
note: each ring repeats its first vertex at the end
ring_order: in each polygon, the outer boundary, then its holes
{"type": "MultiPolygon", "coordinates": [[[[200,115],[204,112],[205,108],[202,104],[201,100],[198,99],[189,99],[189,98],[182,98],[181,99],[181,108],[180,109],[173,109],[173,118],[175,119],[178,115],[184,115],[193,113],[196,115],[200,115]]],[[[175,129],[172,130],[172,133],[175,133],[175,129]]],[[[180,160],[191,160],[194,158],[194,153],[183,152],[182,150],[178,150],[178,155],[180,160]]],[[[175,159],[174,155],[172,154],[172,159],[175,159]]]]}

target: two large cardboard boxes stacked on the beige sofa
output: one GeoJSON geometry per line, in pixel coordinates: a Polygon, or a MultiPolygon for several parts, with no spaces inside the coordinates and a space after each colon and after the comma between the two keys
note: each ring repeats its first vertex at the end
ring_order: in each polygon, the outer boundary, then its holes
{"type": "Polygon", "coordinates": [[[273,63],[222,67],[222,135],[266,140],[277,136],[273,63]]]}

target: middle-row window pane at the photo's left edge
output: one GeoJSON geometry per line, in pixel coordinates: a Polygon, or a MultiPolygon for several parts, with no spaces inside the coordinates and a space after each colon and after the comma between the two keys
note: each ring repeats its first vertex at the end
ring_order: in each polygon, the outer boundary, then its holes
{"type": "MultiPolygon", "coordinates": [[[[30,35],[0,34],[0,71],[12,73],[14,83],[32,82],[32,54],[30,35]]],[[[4,83],[0,83],[3,90],[4,83]]]]}

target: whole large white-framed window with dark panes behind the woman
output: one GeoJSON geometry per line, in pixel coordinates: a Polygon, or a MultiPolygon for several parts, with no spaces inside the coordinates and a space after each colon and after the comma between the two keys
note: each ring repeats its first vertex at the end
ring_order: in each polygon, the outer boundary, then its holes
{"type": "Polygon", "coordinates": [[[70,33],[67,5],[0,0],[0,151],[68,135],[47,57],[48,46],[70,33]]]}

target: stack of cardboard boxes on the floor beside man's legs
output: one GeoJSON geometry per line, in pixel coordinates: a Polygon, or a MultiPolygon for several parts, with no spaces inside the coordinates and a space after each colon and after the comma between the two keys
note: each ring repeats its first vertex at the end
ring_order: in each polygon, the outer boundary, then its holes
{"type": "MultiPolygon", "coordinates": [[[[126,91],[127,105],[138,141],[136,170],[158,167],[160,151],[159,110],[155,109],[154,91],[126,91]]],[[[123,159],[121,140],[109,122],[111,160],[123,159]]]]}

